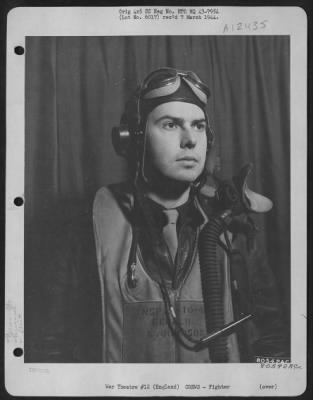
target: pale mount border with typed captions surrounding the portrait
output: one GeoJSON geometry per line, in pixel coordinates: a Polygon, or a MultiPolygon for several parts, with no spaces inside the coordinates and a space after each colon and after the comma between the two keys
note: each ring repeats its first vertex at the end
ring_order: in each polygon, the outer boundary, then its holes
{"type": "MultiPolygon", "coordinates": [[[[5,385],[23,396],[295,396],[306,388],[307,266],[307,16],[299,7],[218,7],[218,20],[121,20],[120,9],[148,7],[20,7],[7,17],[7,160],[5,385]],[[267,20],[263,30],[224,31],[225,24],[267,20]],[[90,23],[92,21],[92,23],[90,23]],[[24,343],[24,198],[26,36],[127,35],[289,35],[291,94],[291,337],[297,368],[260,368],[258,364],[36,364],[14,356],[24,343]],[[299,193],[302,195],[299,196],[299,193]],[[298,223],[297,221],[303,221],[298,223]],[[14,325],[14,340],[9,337],[14,325]],[[196,374],[195,374],[196,370],[196,374]],[[195,378],[196,376],[196,378],[195,378]],[[105,377],[105,378],[104,378],[105,377]],[[209,378],[208,378],[209,377],[209,378]],[[186,384],[203,390],[188,390],[186,384]],[[118,384],[129,387],[119,389],[118,384]],[[142,384],[150,389],[140,389],[142,384]],[[229,389],[208,389],[208,385],[229,389]],[[264,390],[262,384],[274,386],[264,390]],[[109,388],[111,385],[114,388],[109,388]],[[154,385],[178,385],[158,389],[154,385]],[[130,388],[138,386],[138,389],[130,388]]],[[[149,6],[151,8],[151,6],[149,6]]],[[[153,7],[152,7],[153,8],[153,7]]],[[[165,8],[165,7],[156,7],[165,8]]],[[[171,7],[173,9],[177,7],[171,7]]],[[[189,8],[189,7],[184,7],[189,8]]],[[[197,8],[197,7],[192,7],[197,8]]]]}

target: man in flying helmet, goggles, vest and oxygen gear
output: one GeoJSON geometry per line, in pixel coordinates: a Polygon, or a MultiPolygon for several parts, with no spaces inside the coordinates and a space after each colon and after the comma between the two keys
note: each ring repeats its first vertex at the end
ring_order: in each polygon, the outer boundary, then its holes
{"type": "Polygon", "coordinates": [[[212,173],[209,96],[195,73],[157,69],[112,131],[130,180],[94,200],[103,362],[287,355],[270,268],[247,246],[251,215],[271,201],[248,189],[250,166],[229,181],[212,173]]]}

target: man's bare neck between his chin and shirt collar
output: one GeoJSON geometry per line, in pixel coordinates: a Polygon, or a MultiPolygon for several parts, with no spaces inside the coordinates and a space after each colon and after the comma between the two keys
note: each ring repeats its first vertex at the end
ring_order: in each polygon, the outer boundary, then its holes
{"type": "Polygon", "coordinates": [[[147,196],[160,204],[164,208],[177,208],[182,204],[186,203],[189,199],[190,186],[189,185],[175,185],[157,188],[148,187],[146,190],[147,196]]]}

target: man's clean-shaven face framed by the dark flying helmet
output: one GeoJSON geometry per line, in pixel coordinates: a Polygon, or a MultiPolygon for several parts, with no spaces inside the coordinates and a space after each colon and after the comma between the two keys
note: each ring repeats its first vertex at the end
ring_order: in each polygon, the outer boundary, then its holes
{"type": "Polygon", "coordinates": [[[145,164],[163,176],[192,183],[204,168],[206,120],[200,107],[173,101],[152,110],[146,124],[145,164]]]}

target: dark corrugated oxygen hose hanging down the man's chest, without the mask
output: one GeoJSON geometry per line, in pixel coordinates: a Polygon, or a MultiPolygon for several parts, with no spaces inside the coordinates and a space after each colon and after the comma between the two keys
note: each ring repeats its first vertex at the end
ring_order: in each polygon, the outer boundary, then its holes
{"type": "MultiPolygon", "coordinates": [[[[199,237],[199,261],[207,332],[223,328],[223,277],[217,262],[217,242],[223,231],[220,217],[212,218],[199,237]]],[[[220,336],[209,345],[210,359],[214,363],[228,362],[227,337],[220,336]]]]}

